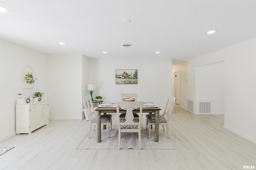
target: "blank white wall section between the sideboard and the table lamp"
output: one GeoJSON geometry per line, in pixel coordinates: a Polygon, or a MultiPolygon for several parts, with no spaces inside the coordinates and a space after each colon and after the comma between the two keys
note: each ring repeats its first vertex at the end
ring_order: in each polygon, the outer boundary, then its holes
{"type": "Polygon", "coordinates": [[[50,120],[82,119],[82,55],[49,55],[50,120]]]}

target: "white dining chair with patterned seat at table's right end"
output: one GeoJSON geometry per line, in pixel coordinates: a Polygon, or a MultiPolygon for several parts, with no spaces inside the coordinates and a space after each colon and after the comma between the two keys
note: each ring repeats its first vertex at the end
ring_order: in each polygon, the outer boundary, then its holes
{"type": "MultiPolygon", "coordinates": [[[[170,118],[172,116],[172,111],[175,106],[176,98],[172,96],[168,96],[167,103],[164,109],[164,113],[162,115],[159,115],[159,125],[162,125],[164,130],[164,125],[166,125],[166,131],[167,131],[167,137],[169,136],[169,128],[168,128],[168,122],[170,121],[170,118]]],[[[150,130],[152,129],[152,125],[155,125],[156,119],[154,114],[146,115],[146,129],[148,129],[148,137],[150,138],[150,130]],[[148,126],[149,125],[149,126],[148,126]]],[[[165,130],[164,130],[165,131],[165,130]]]]}

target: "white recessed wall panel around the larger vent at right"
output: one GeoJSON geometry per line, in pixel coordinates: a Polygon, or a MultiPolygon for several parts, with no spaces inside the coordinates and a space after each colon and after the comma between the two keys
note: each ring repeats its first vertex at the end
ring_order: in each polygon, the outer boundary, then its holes
{"type": "MultiPolygon", "coordinates": [[[[224,114],[225,62],[196,67],[196,102],[212,101],[212,114],[224,114]]],[[[196,107],[198,114],[198,105],[196,107]]]]}

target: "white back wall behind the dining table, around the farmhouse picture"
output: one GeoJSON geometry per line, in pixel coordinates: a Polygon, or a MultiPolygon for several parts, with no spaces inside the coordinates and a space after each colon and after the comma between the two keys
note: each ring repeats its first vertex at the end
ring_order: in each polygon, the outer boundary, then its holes
{"type": "Polygon", "coordinates": [[[138,93],[138,101],[154,102],[164,109],[172,95],[172,59],[90,59],[90,83],[96,84],[93,97],[104,103],[120,101],[120,93],[138,93]],[[116,69],[138,69],[137,85],[116,85],[116,69]]]}

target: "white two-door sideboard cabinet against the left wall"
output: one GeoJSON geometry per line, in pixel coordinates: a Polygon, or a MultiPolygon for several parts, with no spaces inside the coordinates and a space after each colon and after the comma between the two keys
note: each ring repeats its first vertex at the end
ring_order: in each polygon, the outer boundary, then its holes
{"type": "Polygon", "coordinates": [[[28,133],[49,123],[48,101],[16,105],[16,133],[28,133]]]}

